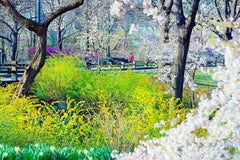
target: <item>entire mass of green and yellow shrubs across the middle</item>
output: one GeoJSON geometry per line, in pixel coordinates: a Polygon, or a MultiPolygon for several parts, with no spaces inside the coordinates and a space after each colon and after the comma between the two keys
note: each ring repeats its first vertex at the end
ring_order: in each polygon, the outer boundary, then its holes
{"type": "Polygon", "coordinates": [[[0,98],[1,143],[130,151],[146,135],[162,136],[161,129],[176,126],[188,112],[176,100],[165,98],[164,86],[145,74],[97,74],[82,70],[74,57],[48,63],[32,89],[42,100],[15,97],[11,86],[1,89],[5,96],[0,98]],[[160,121],[165,125],[154,128],[160,121]]]}

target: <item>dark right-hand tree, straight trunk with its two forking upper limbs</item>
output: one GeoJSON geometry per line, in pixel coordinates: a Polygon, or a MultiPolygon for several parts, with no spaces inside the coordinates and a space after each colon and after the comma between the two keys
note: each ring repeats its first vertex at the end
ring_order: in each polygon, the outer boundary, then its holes
{"type": "Polygon", "coordinates": [[[189,50],[190,38],[193,27],[195,26],[195,17],[198,11],[200,0],[192,1],[191,13],[186,19],[183,14],[183,6],[181,0],[174,0],[176,5],[176,18],[178,25],[178,53],[172,68],[172,96],[182,99],[184,73],[189,50]]]}

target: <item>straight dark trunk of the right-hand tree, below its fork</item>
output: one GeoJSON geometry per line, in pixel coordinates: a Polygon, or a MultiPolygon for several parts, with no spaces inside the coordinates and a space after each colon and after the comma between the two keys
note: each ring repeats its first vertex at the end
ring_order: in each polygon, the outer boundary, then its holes
{"type": "Polygon", "coordinates": [[[190,43],[192,28],[179,27],[178,53],[172,70],[171,93],[175,98],[182,100],[184,72],[190,43]]]}

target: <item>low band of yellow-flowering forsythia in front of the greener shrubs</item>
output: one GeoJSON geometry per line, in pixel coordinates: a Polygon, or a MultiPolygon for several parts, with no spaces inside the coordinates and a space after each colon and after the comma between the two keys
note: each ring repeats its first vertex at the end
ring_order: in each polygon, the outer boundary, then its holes
{"type": "MultiPolygon", "coordinates": [[[[162,128],[154,124],[164,120],[164,129],[184,119],[187,110],[164,99],[161,94],[141,91],[128,107],[119,102],[85,106],[85,101],[67,100],[66,108],[56,108],[33,98],[15,97],[13,86],[1,88],[0,94],[9,94],[0,105],[0,142],[23,146],[27,143],[76,148],[109,147],[129,151],[143,137],[159,137],[162,128]]],[[[138,89],[137,89],[138,90],[138,89]]],[[[139,90],[138,90],[139,91],[139,90]]],[[[57,103],[57,102],[56,102],[57,103]]]]}

